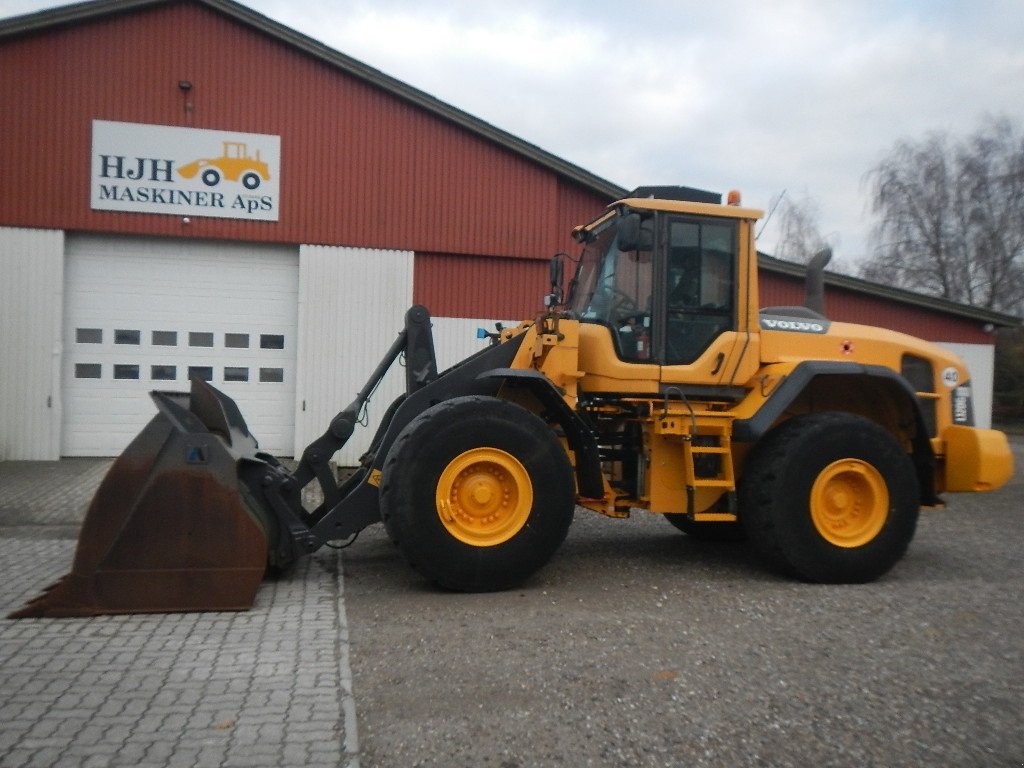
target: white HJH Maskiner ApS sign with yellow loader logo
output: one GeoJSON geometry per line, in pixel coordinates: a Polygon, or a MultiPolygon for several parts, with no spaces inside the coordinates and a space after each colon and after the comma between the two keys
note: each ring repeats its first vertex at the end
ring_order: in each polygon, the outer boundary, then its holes
{"type": "Polygon", "coordinates": [[[97,211],[276,221],[281,136],[92,121],[97,211]]]}

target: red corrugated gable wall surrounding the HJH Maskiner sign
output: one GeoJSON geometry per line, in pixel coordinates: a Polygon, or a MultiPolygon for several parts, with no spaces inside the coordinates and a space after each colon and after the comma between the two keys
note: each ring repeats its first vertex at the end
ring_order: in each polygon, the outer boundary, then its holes
{"type": "Polygon", "coordinates": [[[537,259],[608,202],[188,2],[6,40],[0,95],[4,225],[537,259]],[[93,119],[280,135],[281,220],[92,211],[93,119]]]}

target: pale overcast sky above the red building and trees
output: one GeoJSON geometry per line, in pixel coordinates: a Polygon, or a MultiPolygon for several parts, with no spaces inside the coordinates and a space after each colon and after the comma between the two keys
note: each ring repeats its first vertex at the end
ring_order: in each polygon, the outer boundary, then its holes
{"type": "Polygon", "coordinates": [[[898,139],[1024,123],[1024,0],[246,4],[622,186],[809,199],[846,262],[869,245],[864,174],[898,139]]]}

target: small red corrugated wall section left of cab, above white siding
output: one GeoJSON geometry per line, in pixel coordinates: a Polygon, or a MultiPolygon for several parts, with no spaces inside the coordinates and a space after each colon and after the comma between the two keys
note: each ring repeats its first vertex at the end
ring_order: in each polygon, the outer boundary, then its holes
{"type": "Polygon", "coordinates": [[[431,314],[469,318],[532,318],[550,290],[546,261],[428,253],[416,254],[413,285],[431,314]]]}

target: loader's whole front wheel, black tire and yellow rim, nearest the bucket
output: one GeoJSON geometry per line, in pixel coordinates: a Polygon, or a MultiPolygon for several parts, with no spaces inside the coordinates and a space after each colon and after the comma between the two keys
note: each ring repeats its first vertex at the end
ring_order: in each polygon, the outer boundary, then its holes
{"type": "Polygon", "coordinates": [[[456,397],[420,414],[383,469],[388,535],[447,589],[516,586],[548,562],[572,521],[575,484],[558,438],[495,397],[456,397]]]}

